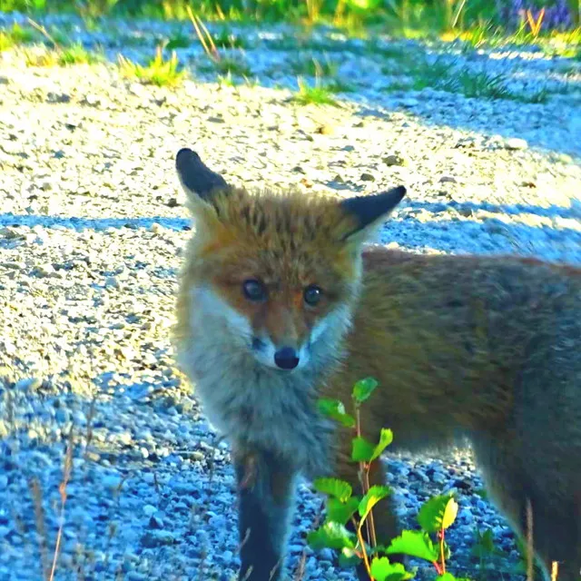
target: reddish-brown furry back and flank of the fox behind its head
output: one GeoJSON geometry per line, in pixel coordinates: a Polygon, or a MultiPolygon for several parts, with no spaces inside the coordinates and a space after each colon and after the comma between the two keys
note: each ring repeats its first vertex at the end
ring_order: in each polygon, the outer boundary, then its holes
{"type": "Polygon", "coordinates": [[[381,247],[363,263],[349,363],[333,389],[378,378],[388,406],[378,405],[378,424],[391,422],[413,447],[415,421],[434,441],[453,438],[458,426],[506,426],[531,397],[555,412],[566,401],[581,422],[581,270],[381,247]],[[528,375],[545,378],[542,388],[528,375]]]}

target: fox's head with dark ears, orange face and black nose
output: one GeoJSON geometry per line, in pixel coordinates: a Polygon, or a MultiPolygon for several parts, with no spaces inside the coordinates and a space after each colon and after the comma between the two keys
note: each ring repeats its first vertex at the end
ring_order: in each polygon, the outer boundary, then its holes
{"type": "Polygon", "coordinates": [[[184,271],[196,333],[218,320],[224,342],[281,371],[304,369],[317,350],[336,345],[359,291],[363,242],[406,189],[341,202],[250,193],[189,149],[177,154],[176,169],[196,229],[184,271]]]}

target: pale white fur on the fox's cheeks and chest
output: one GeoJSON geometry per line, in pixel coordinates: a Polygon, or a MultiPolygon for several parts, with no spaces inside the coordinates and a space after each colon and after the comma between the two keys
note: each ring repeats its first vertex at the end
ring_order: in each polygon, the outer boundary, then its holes
{"type": "Polygon", "coordinates": [[[192,291],[192,339],[179,354],[206,417],[231,442],[276,452],[308,478],[330,469],[333,423],[316,409],[325,372],[339,359],[347,313],[321,328],[310,365],[269,369],[249,353],[246,321],[215,293],[192,291]]]}

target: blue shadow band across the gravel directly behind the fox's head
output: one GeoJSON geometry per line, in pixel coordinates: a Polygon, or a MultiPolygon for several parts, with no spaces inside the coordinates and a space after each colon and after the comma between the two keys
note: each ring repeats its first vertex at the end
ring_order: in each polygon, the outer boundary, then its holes
{"type": "MultiPolygon", "coordinates": [[[[514,252],[537,254],[552,261],[581,262],[581,230],[563,224],[559,228],[544,224],[529,225],[523,222],[504,222],[500,218],[482,217],[477,220],[467,212],[479,210],[501,215],[534,213],[547,218],[578,218],[575,209],[559,206],[542,208],[537,206],[497,205],[484,203],[438,203],[409,201],[386,222],[383,228],[384,241],[398,242],[405,248],[415,250],[474,253],[514,252]],[[434,218],[419,219],[414,212],[428,211],[434,218]],[[453,212],[450,215],[450,210],[453,212]],[[438,214],[441,219],[438,220],[438,214]]],[[[190,221],[185,218],[79,218],[38,215],[0,214],[2,226],[41,225],[45,228],[66,228],[74,231],[105,231],[110,228],[150,229],[158,223],[172,231],[190,230],[190,221]]]]}

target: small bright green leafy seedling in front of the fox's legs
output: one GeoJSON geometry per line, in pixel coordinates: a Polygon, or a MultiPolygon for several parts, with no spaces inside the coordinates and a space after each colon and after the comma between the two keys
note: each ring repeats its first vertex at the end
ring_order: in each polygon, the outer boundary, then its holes
{"type": "MultiPolygon", "coordinates": [[[[359,482],[363,495],[353,494],[348,482],[339,478],[318,478],[314,487],[326,495],[325,521],[310,532],[307,541],[315,550],[330,548],[339,552],[341,566],[364,564],[370,581],[404,581],[416,575],[400,563],[392,563],[390,555],[407,555],[431,563],[437,581],[460,581],[447,571],[450,550],[446,530],[458,514],[458,503],[452,495],[430,498],[419,510],[420,530],[404,530],[388,547],[379,545],[373,520],[373,508],[389,497],[387,486],[369,486],[369,470],[391,444],[393,434],[382,428],[377,442],[362,435],[361,406],[371,397],[378,382],[373,378],[361,379],[353,387],[351,400],[354,414],[350,414],[339,399],[319,400],[320,413],[335,420],[343,428],[353,431],[351,459],[359,464],[359,482]]],[[[463,580],[468,581],[468,580],[463,580]]]]}

